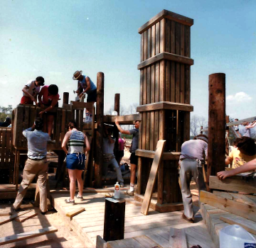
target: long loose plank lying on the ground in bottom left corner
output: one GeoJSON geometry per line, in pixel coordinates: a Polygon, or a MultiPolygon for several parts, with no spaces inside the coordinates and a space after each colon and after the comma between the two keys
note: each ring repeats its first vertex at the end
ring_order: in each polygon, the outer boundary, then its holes
{"type": "Polygon", "coordinates": [[[18,242],[24,239],[31,239],[32,237],[38,237],[41,235],[48,235],[53,232],[58,232],[58,229],[56,229],[55,227],[45,227],[42,229],[33,230],[31,232],[21,232],[16,235],[0,238],[0,245],[18,242]]]}

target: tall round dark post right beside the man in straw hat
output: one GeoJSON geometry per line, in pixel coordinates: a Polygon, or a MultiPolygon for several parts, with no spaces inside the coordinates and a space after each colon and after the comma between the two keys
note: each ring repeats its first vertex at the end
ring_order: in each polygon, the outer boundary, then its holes
{"type": "Polygon", "coordinates": [[[96,144],[95,144],[95,188],[102,187],[103,164],[103,115],[104,115],[104,73],[97,73],[97,103],[96,103],[96,144]]]}

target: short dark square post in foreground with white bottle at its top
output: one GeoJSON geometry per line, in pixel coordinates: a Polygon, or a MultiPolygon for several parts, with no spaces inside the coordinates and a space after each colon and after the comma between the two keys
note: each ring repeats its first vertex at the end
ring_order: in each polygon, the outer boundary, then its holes
{"type": "Polygon", "coordinates": [[[125,200],[105,199],[105,220],[103,239],[107,241],[124,239],[125,200]]]}

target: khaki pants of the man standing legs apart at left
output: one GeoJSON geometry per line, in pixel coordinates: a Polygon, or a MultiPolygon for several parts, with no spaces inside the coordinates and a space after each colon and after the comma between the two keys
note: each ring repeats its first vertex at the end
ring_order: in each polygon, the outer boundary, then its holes
{"type": "Polygon", "coordinates": [[[47,211],[47,192],[46,192],[46,180],[47,180],[48,162],[47,159],[32,160],[27,159],[23,170],[23,180],[21,186],[18,189],[18,194],[14,202],[14,208],[18,209],[21,206],[21,201],[26,195],[28,186],[31,184],[35,176],[38,176],[38,188],[40,194],[40,209],[42,212],[47,211]]]}

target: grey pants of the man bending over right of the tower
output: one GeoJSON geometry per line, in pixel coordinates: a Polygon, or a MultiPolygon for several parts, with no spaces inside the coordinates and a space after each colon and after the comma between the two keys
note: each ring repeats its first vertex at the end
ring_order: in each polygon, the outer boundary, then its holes
{"type": "Polygon", "coordinates": [[[181,179],[181,194],[184,205],[184,215],[186,218],[193,219],[192,194],[190,190],[191,179],[196,181],[198,191],[206,190],[206,184],[203,181],[203,168],[198,167],[198,162],[194,159],[183,159],[179,171],[181,179]]]}

